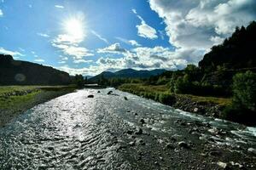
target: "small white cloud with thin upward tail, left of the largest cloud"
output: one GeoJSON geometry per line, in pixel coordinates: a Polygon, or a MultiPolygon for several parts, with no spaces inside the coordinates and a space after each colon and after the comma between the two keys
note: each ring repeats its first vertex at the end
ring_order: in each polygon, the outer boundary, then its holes
{"type": "MultiPolygon", "coordinates": [[[[134,14],[137,14],[137,11],[135,9],[131,9],[131,11],[134,14]]],[[[145,20],[143,20],[143,18],[137,14],[137,17],[142,21],[141,25],[137,25],[137,34],[140,37],[145,37],[145,38],[149,38],[149,39],[156,39],[158,38],[157,36],[157,31],[151,27],[148,26],[148,24],[146,23],[145,20]]]]}

